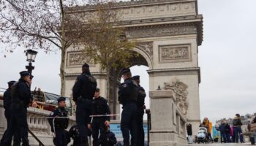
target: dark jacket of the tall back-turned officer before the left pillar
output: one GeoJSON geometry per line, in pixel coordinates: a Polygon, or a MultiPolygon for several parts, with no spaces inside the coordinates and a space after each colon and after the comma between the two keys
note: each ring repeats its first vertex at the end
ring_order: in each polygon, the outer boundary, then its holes
{"type": "Polygon", "coordinates": [[[75,85],[72,88],[73,101],[79,97],[92,100],[97,87],[97,81],[91,76],[90,72],[83,72],[77,77],[75,85]]]}

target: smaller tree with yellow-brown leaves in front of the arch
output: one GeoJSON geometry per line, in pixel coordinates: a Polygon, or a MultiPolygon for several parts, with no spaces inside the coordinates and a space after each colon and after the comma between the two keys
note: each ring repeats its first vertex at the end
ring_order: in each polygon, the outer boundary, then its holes
{"type": "Polygon", "coordinates": [[[94,1],[89,9],[86,24],[89,31],[83,38],[83,55],[100,64],[106,72],[107,98],[110,99],[111,69],[120,69],[129,65],[129,58],[135,56],[132,51],[135,40],[127,40],[125,28],[121,25],[121,12],[116,8],[116,1],[94,1]]]}

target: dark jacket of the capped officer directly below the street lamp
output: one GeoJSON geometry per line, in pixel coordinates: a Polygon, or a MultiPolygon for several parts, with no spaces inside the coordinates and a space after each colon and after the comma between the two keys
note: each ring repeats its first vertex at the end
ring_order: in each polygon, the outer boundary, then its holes
{"type": "Polygon", "coordinates": [[[20,104],[27,107],[31,101],[31,91],[29,84],[22,78],[17,84],[12,86],[11,91],[12,103],[20,104]]]}

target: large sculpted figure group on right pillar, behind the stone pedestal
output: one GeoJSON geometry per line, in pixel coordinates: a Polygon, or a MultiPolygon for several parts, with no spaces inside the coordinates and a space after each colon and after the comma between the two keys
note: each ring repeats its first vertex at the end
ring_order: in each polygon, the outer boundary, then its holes
{"type": "Polygon", "coordinates": [[[187,88],[188,86],[184,82],[180,82],[178,79],[175,79],[171,82],[165,82],[165,90],[172,90],[174,96],[176,97],[176,105],[183,112],[184,115],[187,115],[187,110],[189,104],[187,102],[187,88]]]}

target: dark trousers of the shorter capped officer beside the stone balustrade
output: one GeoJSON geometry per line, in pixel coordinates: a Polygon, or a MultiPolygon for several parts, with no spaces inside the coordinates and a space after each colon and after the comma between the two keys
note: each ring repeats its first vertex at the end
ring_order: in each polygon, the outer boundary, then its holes
{"type": "Polygon", "coordinates": [[[53,143],[56,146],[67,146],[67,131],[64,129],[56,129],[53,143]]]}

